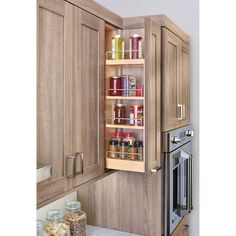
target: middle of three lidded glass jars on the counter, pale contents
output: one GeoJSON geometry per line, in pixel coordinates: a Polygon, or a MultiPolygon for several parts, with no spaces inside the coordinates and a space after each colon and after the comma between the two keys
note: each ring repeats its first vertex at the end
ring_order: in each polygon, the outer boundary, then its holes
{"type": "Polygon", "coordinates": [[[59,209],[47,213],[46,236],[70,236],[70,226],[64,220],[64,212],[59,209]]]}

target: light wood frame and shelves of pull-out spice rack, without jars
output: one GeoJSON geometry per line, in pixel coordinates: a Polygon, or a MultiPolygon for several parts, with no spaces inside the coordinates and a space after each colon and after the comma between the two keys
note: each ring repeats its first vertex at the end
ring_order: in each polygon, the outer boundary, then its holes
{"type": "MultiPolygon", "coordinates": [[[[129,36],[134,32],[132,30],[125,30],[126,32],[118,32],[125,38],[125,45],[128,44],[129,36]],[[124,34],[123,34],[124,33],[124,34]]],[[[145,104],[145,93],[144,96],[109,96],[109,78],[115,75],[129,74],[142,84],[145,84],[145,59],[110,59],[107,55],[111,53],[111,39],[117,33],[116,29],[110,27],[105,31],[105,153],[106,153],[106,168],[115,170],[125,170],[133,172],[145,173],[145,117],[144,126],[128,125],[128,124],[112,124],[107,122],[113,117],[113,110],[115,103],[126,103],[127,105],[145,104]],[[108,59],[109,58],[109,59],[108,59]],[[123,101],[124,100],[124,101],[123,101]],[[142,137],[139,141],[143,141],[143,156],[142,160],[129,160],[129,159],[118,159],[110,158],[109,141],[116,131],[133,131],[138,137],[142,137]]],[[[139,35],[144,39],[144,29],[138,29],[139,35]]],[[[143,55],[143,54],[142,54],[143,55]]],[[[145,85],[144,85],[145,87],[145,85]]],[[[145,88],[144,88],[145,89],[145,88]]],[[[144,107],[145,110],[145,107],[144,107]]]]}

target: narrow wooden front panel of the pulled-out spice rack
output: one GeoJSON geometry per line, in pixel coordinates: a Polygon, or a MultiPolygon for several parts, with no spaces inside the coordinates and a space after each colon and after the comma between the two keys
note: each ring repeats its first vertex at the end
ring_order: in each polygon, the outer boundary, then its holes
{"type": "Polygon", "coordinates": [[[145,156],[146,173],[156,172],[161,157],[161,28],[145,19],[145,156]]]}

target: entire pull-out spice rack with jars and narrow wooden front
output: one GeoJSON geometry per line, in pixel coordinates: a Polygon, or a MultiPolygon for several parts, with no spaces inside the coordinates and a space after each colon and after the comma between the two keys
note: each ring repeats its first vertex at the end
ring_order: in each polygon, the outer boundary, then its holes
{"type": "Polygon", "coordinates": [[[156,172],[161,155],[160,25],[149,18],[138,28],[107,25],[105,35],[106,168],[156,172]],[[117,47],[119,40],[123,46],[117,47]]]}

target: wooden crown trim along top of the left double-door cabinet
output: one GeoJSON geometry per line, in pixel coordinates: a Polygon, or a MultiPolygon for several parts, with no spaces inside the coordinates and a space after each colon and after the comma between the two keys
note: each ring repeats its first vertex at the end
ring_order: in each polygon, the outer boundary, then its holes
{"type": "Polygon", "coordinates": [[[118,28],[123,27],[123,18],[93,0],[67,0],[118,28]]]}

